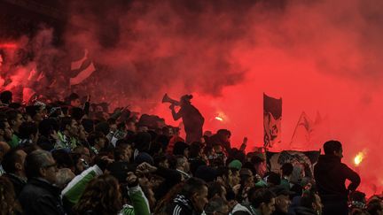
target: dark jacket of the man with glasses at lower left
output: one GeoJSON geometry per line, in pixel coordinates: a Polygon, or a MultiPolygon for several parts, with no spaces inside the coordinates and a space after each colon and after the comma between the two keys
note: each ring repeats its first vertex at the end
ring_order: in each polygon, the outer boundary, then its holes
{"type": "Polygon", "coordinates": [[[25,214],[65,214],[59,188],[40,179],[28,180],[22,189],[19,201],[25,214]]]}

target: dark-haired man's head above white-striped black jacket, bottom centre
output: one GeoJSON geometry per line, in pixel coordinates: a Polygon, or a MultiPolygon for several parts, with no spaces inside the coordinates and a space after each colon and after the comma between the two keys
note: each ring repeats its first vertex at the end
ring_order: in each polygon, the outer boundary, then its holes
{"type": "Polygon", "coordinates": [[[182,194],[191,201],[195,211],[201,213],[207,204],[207,184],[205,181],[190,178],[186,180],[182,194]]]}

